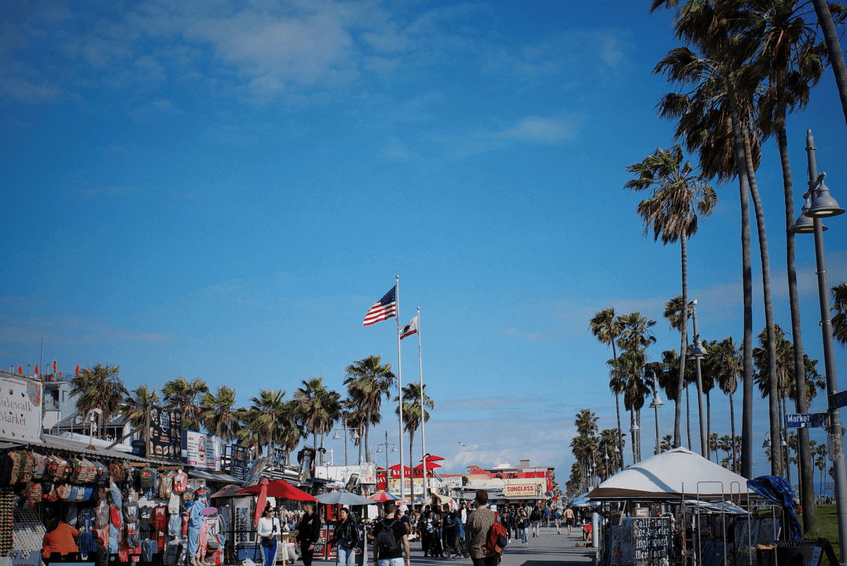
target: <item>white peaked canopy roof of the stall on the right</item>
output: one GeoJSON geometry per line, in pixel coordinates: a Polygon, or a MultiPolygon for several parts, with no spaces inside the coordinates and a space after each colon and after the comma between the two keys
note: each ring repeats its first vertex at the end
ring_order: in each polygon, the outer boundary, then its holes
{"type": "Polygon", "coordinates": [[[747,480],[685,448],[657,454],[612,475],[589,492],[590,499],[729,499],[748,493],[747,480]]]}

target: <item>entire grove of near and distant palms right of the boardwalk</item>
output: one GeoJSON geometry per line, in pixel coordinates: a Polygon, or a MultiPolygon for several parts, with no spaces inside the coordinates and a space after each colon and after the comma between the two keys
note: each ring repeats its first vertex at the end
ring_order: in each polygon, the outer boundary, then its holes
{"type": "MultiPolygon", "coordinates": [[[[571,448],[576,462],[567,489],[572,496],[579,495],[625,465],[624,430],[632,433],[632,462],[639,462],[639,429],[645,428],[641,426],[641,411],[654,387],[673,401],[675,410],[673,434],[663,437],[659,449],[678,448],[685,440],[691,448],[689,385],[692,383],[695,404],[699,407],[695,444],[700,444],[702,439],[701,447],[695,445],[695,452],[701,450],[709,459],[714,453],[718,464],[752,477],[752,408],[757,388],[762,398],[768,400],[769,436],[775,447],[772,452],[766,449],[771,474],[790,478],[790,465],[797,464],[795,479],[799,478],[804,528],[814,530],[812,466],[820,471],[822,484],[827,449],[816,447],[806,428],[794,429],[797,432],[791,434],[784,428],[786,414],[806,413],[817,394],[826,395],[826,380],[817,369],[817,360],[810,360],[804,354],[800,332],[791,229],[795,218],[794,187],[786,117],[808,104],[812,87],[831,65],[847,123],[847,70],[834,33],[834,25],[844,24],[847,8],[824,0],[813,0],[811,4],[794,0],[684,3],[653,0],[650,11],[660,9],[676,10],[673,30],[682,43],[667,52],[654,69],[655,74],[667,79],[667,93],[658,101],[657,109],[661,118],[675,124],[674,145],[667,149],[659,147],[641,162],[625,166],[631,178],[623,190],[644,195],[636,212],[644,223],[645,235],[651,235],[654,241],[661,239],[662,245],[679,244],[681,294],[668,300],[664,310],[667,323],[680,333],[679,351],[670,349],[650,355],[650,345],[656,342],[652,333],[656,321],[639,312],[620,313],[609,305],[591,318],[590,332],[612,350],[607,366],[617,409],[617,428],[598,431],[597,417],[590,409],[582,409],[575,415],[577,436],[571,448]],[[791,327],[786,329],[773,320],[770,250],[756,184],[761,146],[768,140],[778,146],[783,171],[784,225],[783,218],[778,219],[778,224],[786,235],[791,313],[791,327]],[[692,165],[684,157],[684,151],[695,154],[699,163],[692,165]],[[717,191],[711,183],[728,185],[734,181],[738,183],[741,212],[743,335],[701,340],[697,332],[697,301],[689,297],[688,291],[687,242],[717,203],[717,191]],[[752,315],[751,214],[755,220],[764,299],[764,327],[757,336],[754,336],[752,315]],[[693,339],[689,339],[689,321],[694,326],[693,339]],[[712,432],[711,401],[712,393],[717,393],[716,387],[728,398],[730,420],[721,424],[720,431],[712,432]],[[738,430],[737,393],[740,393],[741,413],[738,430]],[[622,400],[629,426],[621,420],[622,400]],[[780,439],[788,444],[789,461],[780,439]],[[792,452],[794,456],[790,455],[792,452]]],[[[800,171],[804,169],[801,167],[800,171]]],[[[811,177],[814,174],[810,169],[811,177]]],[[[804,187],[805,174],[802,179],[800,186],[804,187]]],[[[844,323],[847,285],[842,282],[831,292],[833,336],[844,346],[847,344],[844,323]]]]}

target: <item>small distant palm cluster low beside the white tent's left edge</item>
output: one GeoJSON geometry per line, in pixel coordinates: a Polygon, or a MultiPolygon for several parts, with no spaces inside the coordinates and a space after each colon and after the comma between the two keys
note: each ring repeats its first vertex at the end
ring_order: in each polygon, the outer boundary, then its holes
{"type": "Polygon", "coordinates": [[[565,482],[568,499],[584,493],[595,481],[603,481],[621,469],[620,446],[623,440],[616,428],[604,429],[598,434],[597,416],[591,409],[577,413],[574,425],[577,436],[571,440],[571,452],[576,462],[565,482]]]}

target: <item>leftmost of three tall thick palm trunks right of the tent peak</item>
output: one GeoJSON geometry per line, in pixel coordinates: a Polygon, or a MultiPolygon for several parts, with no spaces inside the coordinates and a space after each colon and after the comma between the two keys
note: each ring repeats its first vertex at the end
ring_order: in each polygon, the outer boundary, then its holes
{"type": "Polygon", "coordinates": [[[733,124],[735,162],[741,201],[741,269],[744,284],[744,377],[741,408],[741,474],[753,477],[753,269],[750,264],[750,187],[745,164],[744,140],[739,125],[738,101],[732,81],[727,81],[729,116],[733,124]]]}

